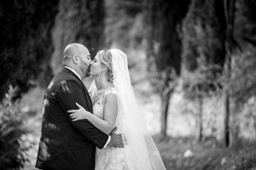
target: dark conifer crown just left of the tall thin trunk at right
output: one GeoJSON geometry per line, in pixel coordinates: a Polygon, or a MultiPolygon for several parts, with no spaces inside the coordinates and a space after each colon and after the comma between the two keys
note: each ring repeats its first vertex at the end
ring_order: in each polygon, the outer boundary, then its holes
{"type": "Polygon", "coordinates": [[[192,1],[183,20],[183,69],[224,64],[224,10],[217,1],[192,1]]]}

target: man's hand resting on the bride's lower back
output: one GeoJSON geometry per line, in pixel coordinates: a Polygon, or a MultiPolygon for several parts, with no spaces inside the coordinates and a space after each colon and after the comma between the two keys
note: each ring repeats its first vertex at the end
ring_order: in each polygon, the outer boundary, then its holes
{"type": "Polygon", "coordinates": [[[109,133],[109,135],[111,136],[111,140],[108,143],[108,147],[124,148],[124,146],[127,144],[127,139],[125,139],[122,134],[115,133],[116,130],[117,127],[114,127],[111,133],[109,133]]]}

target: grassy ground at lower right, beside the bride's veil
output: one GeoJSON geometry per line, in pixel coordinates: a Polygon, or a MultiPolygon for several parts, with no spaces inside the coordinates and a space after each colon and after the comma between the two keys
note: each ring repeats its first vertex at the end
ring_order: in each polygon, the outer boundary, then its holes
{"type": "Polygon", "coordinates": [[[188,138],[154,137],[166,169],[172,170],[256,170],[255,144],[226,149],[216,142],[196,143],[188,138]],[[184,156],[190,150],[191,156],[184,156]]]}

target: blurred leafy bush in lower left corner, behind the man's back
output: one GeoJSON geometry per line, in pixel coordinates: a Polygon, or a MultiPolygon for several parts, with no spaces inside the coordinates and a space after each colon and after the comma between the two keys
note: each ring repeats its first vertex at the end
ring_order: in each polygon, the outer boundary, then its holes
{"type": "Polygon", "coordinates": [[[16,88],[9,88],[0,104],[0,169],[20,169],[27,160],[26,151],[32,144],[24,140],[28,132],[24,126],[19,101],[13,101],[16,88]]]}

